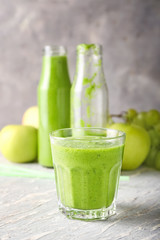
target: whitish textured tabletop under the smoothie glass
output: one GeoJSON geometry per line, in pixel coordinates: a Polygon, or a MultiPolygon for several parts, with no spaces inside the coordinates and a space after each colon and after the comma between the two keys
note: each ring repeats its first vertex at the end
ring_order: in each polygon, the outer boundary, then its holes
{"type": "MultiPolygon", "coordinates": [[[[0,163],[9,164],[2,156],[0,163]]],[[[20,165],[53,172],[37,163],[20,165]]],[[[117,215],[69,220],[58,211],[52,179],[0,177],[0,240],[160,240],[160,172],[140,168],[120,182],[117,215]]]]}

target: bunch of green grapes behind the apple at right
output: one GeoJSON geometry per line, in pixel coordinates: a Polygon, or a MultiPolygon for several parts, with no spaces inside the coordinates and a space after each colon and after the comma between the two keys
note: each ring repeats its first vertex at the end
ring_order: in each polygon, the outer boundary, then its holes
{"type": "Polygon", "coordinates": [[[151,139],[151,148],[144,163],[148,167],[160,170],[160,112],[155,109],[148,112],[128,109],[123,117],[127,123],[141,126],[147,130],[151,139]]]}

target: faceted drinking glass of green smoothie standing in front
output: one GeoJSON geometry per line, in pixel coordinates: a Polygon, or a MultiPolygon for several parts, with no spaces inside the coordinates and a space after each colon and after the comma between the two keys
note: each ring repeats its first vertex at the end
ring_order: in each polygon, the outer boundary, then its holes
{"type": "Polygon", "coordinates": [[[66,128],[52,132],[50,141],[60,211],[81,220],[114,215],[125,133],[66,128]]]}

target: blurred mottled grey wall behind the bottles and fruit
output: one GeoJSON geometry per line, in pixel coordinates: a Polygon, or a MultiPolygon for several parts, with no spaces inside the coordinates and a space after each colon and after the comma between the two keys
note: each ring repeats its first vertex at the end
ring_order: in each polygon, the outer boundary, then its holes
{"type": "Polygon", "coordinates": [[[0,127],[37,103],[42,48],[100,43],[110,112],[160,110],[159,0],[0,0],[0,127]]]}

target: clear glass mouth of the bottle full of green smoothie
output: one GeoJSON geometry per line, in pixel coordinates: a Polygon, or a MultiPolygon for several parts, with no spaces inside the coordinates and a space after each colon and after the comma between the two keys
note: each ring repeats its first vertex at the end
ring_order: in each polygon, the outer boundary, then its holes
{"type": "Polygon", "coordinates": [[[50,46],[44,47],[45,56],[63,56],[66,55],[66,48],[64,46],[50,46]]]}

